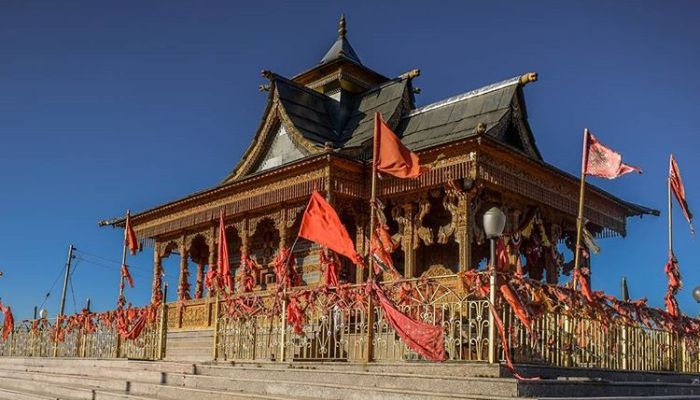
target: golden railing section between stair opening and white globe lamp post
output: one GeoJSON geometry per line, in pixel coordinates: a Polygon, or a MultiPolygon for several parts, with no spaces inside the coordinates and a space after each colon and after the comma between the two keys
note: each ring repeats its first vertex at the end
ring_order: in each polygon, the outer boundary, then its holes
{"type": "MultiPolygon", "coordinates": [[[[403,298],[399,284],[382,285],[402,312],[443,326],[449,360],[486,360],[489,324],[486,300],[460,294],[457,276],[413,279],[405,284],[411,290],[404,287],[403,298]]],[[[364,287],[354,285],[341,290],[361,294],[364,287]]],[[[376,304],[372,305],[374,318],[370,324],[368,303],[362,296],[357,297],[359,300],[352,296],[348,299],[339,296],[334,288],[315,294],[305,306],[301,333],[294,332],[283,313],[271,312],[275,307],[284,310],[286,300],[276,299],[274,293],[258,294],[256,298],[262,311],[253,316],[245,313],[232,316],[226,307],[220,308],[215,345],[220,359],[366,361],[368,352],[375,361],[420,359],[397,336],[376,304]]]]}

